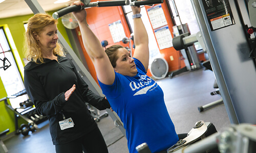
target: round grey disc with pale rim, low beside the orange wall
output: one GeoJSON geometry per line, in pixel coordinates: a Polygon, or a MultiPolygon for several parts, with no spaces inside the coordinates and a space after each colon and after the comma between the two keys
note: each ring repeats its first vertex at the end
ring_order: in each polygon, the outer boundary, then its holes
{"type": "Polygon", "coordinates": [[[169,70],[168,63],[164,58],[156,58],[150,66],[151,74],[156,79],[163,79],[169,70]]]}

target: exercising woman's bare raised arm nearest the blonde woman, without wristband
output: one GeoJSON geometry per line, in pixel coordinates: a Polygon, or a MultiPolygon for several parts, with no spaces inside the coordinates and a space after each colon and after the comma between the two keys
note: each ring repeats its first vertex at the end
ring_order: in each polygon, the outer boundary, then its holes
{"type": "MultiPolygon", "coordinates": [[[[80,1],[76,1],[72,5],[83,4],[80,1]]],[[[86,10],[82,9],[81,11],[73,12],[73,14],[79,23],[83,45],[92,59],[98,80],[103,84],[112,85],[115,80],[114,68],[100,41],[88,26],[86,10]]]]}

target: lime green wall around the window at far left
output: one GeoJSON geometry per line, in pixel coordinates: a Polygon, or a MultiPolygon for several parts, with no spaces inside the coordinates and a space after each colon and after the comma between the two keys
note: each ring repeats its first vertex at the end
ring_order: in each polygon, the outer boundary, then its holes
{"type": "MultiPolygon", "coordinates": [[[[53,12],[48,12],[49,14],[53,14],[53,12]]],[[[11,48],[14,53],[14,58],[17,62],[17,66],[19,68],[20,73],[23,77],[23,67],[25,66],[23,59],[26,58],[24,54],[24,34],[25,34],[25,28],[24,28],[24,22],[28,21],[30,17],[32,17],[34,14],[25,15],[25,16],[16,16],[16,17],[10,17],[10,18],[3,18],[0,19],[0,27],[4,27],[5,30],[10,30],[11,36],[7,36],[8,41],[10,42],[11,48]],[[14,43],[11,43],[14,42],[14,43]],[[18,54],[17,54],[18,53],[18,54]]],[[[67,43],[71,46],[68,35],[66,33],[66,29],[63,26],[61,19],[58,19],[58,25],[57,28],[61,35],[66,39],[67,43]]],[[[3,85],[3,82],[0,78],[0,99],[3,97],[6,97],[7,93],[5,90],[5,87],[3,85]]],[[[22,101],[20,101],[22,102],[22,101]]],[[[15,125],[14,125],[14,114],[10,112],[8,108],[5,107],[4,101],[0,101],[0,132],[10,129],[10,132],[15,131],[15,125]]]]}

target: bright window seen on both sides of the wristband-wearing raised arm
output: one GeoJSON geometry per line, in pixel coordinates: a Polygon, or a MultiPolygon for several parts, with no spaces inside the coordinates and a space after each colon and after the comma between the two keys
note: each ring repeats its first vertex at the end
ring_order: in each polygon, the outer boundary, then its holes
{"type": "MultiPolygon", "coordinates": [[[[132,32],[134,31],[134,23],[133,23],[133,12],[131,9],[131,6],[123,6],[124,13],[126,14],[127,20],[131,25],[132,32]]],[[[154,32],[151,27],[150,19],[147,16],[145,7],[141,7],[141,19],[145,25],[147,35],[148,35],[148,47],[150,49],[150,65],[153,62],[154,59],[161,57],[161,54],[159,52],[159,48],[157,46],[157,41],[154,35],[154,32]]]]}

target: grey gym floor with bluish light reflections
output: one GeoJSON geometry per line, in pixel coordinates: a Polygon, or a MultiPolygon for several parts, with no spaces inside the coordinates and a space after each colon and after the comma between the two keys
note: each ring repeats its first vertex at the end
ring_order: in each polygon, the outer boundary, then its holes
{"type": "MultiPolygon", "coordinates": [[[[215,77],[210,70],[203,68],[183,72],[172,79],[156,80],[164,91],[165,103],[176,127],[178,134],[188,133],[199,120],[212,122],[217,131],[221,132],[230,126],[230,121],[224,104],[220,104],[203,112],[198,111],[199,106],[211,103],[221,98],[220,95],[210,95],[215,77]]],[[[104,113],[104,111],[101,111],[104,113]]],[[[128,153],[127,140],[110,116],[98,122],[99,129],[108,145],[110,153],[128,153]]],[[[38,125],[39,130],[29,133],[28,136],[10,134],[3,138],[9,153],[55,152],[52,144],[48,121],[38,125]]]]}

